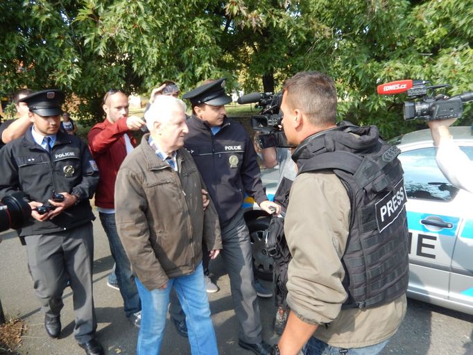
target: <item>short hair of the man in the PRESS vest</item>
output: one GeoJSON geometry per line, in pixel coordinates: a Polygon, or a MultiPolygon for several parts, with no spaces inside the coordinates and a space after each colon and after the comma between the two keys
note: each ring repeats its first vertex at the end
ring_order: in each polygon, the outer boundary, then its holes
{"type": "Polygon", "coordinates": [[[298,108],[314,125],[336,123],[336,89],[332,78],[318,71],[301,71],[282,87],[291,108],[298,108]]]}

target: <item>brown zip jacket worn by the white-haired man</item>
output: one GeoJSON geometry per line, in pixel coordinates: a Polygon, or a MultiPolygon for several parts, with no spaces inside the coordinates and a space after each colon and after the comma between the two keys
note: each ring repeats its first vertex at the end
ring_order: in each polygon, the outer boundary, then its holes
{"type": "Polygon", "coordinates": [[[121,164],[115,184],[117,230],[132,271],[153,290],[169,278],[193,272],[202,260],[202,241],[221,249],[212,202],[203,211],[205,189],[196,164],[178,150],[178,172],[157,157],[145,135],[121,164]]]}

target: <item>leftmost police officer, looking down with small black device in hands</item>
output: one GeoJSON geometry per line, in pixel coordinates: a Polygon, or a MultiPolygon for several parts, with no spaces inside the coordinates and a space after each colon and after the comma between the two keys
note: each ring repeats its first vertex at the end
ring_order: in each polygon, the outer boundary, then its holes
{"type": "Polygon", "coordinates": [[[28,105],[32,128],[0,150],[0,198],[15,191],[28,196],[33,217],[19,235],[26,243],[35,294],[51,338],[61,331],[62,293],[70,282],[74,336],[87,354],[103,354],[94,339],[92,297],[92,198],[98,168],[77,137],[60,131],[64,94],[50,89],[20,101],[28,105]]]}

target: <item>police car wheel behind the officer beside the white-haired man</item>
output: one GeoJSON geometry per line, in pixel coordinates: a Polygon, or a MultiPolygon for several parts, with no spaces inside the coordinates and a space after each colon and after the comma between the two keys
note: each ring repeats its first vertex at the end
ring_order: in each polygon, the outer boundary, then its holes
{"type": "Polygon", "coordinates": [[[273,258],[266,254],[266,240],[264,237],[264,231],[268,229],[270,220],[270,217],[259,217],[248,220],[246,223],[250,231],[255,274],[260,279],[267,281],[273,280],[273,258]]]}

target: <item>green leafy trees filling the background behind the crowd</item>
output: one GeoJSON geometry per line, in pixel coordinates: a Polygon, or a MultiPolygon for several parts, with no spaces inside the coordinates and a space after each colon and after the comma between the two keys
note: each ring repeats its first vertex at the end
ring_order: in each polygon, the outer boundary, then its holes
{"type": "Polygon", "coordinates": [[[164,79],[185,91],[226,76],[229,89],[277,91],[318,70],[336,80],[339,119],[389,138],[424,123],[404,122],[406,96],[377,85],[473,90],[473,0],[10,0],[0,17],[0,92],[58,87],[85,124],[112,87],[148,96],[164,79]]]}

